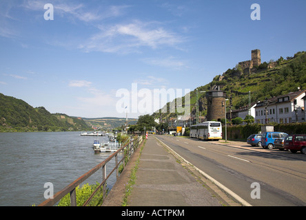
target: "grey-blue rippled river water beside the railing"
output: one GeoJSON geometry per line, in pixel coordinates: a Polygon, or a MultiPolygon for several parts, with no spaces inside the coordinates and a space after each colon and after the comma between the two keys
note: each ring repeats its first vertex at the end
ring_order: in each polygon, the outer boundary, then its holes
{"type": "MultiPolygon", "coordinates": [[[[45,200],[44,184],[54,194],[103,162],[112,153],[94,153],[94,140],[108,137],[81,136],[80,132],[0,133],[0,206],[32,206],[45,200]]],[[[106,166],[114,168],[114,159],[106,166]]],[[[101,183],[98,170],[84,184],[101,183]]],[[[112,188],[116,175],[108,180],[112,188]]]]}

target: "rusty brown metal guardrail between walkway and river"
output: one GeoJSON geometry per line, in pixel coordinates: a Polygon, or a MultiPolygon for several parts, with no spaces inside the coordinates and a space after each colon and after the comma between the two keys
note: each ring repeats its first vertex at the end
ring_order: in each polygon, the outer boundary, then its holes
{"type": "Polygon", "coordinates": [[[39,206],[54,206],[54,204],[56,204],[58,201],[60,201],[68,193],[70,193],[70,206],[76,206],[76,187],[79,186],[80,184],[82,184],[83,181],[88,179],[88,177],[90,177],[91,175],[96,173],[96,171],[99,170],[100,168],[102,168],[102,170],[103,170],[102,183],[94,190],[94,192],[92,192],[92,195],[90,195],[88,200],[85,201],[83,206],[87,206],[90,203],[92,197],[94,197],[94,195],[101,188],[101,186],[102,186],[102,190],[103,190],[103,201],[104,201],[105,196],[106,196],[106,193],[105,193],[106,192],[106,188],[105,188],[106,181],[108,180],[110,175],[112,175],[112,173],[114,173],[115,170],[116,170],[116,179],[118,179],[118,177],[119,177],[119,165],[121,163],[123,163],[123,169],[124,169],[124,167],[126,165],[126,162],[128,162],[128,159],[130,159],[132,153],[134,153],[134,151],[136,150],[136,148],[139,147],[139,144],[141,144],[142,141],[143,141],[143,136],[133,138],[132,140],[130,140],[130,142],[126,143],[123,147],[119,148],[118,151],[114,152],[112,155],[110,155],[110,157],[105,159],[103,162],[96,165],[94,168],[89,170],[87,173],[83,174],[81,177],[74,180],[71,184],[69,184],[68,186],[66,186],[65,188],[63,188],[59,192],[57,192],[54,195],[53,199],[46,199],[45,201],[40,203],[39,206]],[[124,153],[125,149],[127,150],[126,151],[127,153],[124,153]],[[122,159],[120,159],[120,161],[118,161],[118,155],[121,152],[123,152],[123,157],[122,157],[122,159]],[[108,176],[106,176],[107,175],[106,174],[106,164],[108,164],[108,162],[110,162],[110,160],[112,158],[115,158],[115,165],[116,166],[114,166],[114,168],[110,171],[108,176]]]}

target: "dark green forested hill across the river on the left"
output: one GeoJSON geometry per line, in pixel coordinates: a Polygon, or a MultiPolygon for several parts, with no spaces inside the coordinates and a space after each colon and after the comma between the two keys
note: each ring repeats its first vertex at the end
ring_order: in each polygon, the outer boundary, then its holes
{"type": "Polygon", "coordinates": [[[85,131],[91,128],[81,118],[52,114],[44,107],[0,94],[0,131],[85,131]]]}

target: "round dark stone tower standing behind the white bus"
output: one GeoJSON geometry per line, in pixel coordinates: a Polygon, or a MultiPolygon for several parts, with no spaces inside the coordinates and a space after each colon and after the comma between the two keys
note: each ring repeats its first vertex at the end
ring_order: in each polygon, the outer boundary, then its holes
{"type": "Polygon", "coordinates": [[[211,90],[206,92],[207,121],[221,121],[225,118],[225,91],[211,90]]]}

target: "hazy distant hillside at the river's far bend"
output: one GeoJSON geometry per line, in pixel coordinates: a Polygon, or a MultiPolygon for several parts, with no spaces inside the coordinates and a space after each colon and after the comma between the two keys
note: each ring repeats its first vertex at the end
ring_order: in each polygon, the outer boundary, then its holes
{"type": "MultiPolygon", "coordinates": [[[[85,122],[94,127],[101,127],[103,129],[114,129],[119,126],[124,126],[126,118],[104,117],[104,118],[83,118],[85,122]]],[[[128,124],[136,124],[138,119],[128,118],[128,124]]]]}

